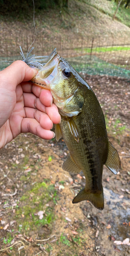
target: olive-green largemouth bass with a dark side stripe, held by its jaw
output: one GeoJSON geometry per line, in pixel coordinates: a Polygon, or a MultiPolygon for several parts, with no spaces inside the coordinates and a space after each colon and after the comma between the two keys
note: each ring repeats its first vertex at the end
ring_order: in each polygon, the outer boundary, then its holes
{"type": "Polygon", "coordinates": [[[103,165],[116,175],[121,162],[108,138],[105,117],[96,95],[56,50],[31,81],[50,90],[59,109],[61,123],[55,126],[56,140],[63,137],[69,150],[62,168],[73,174],[81,170],[84,173],[86,185],[72,203],[87,200],[103,210],[103,165]]]}

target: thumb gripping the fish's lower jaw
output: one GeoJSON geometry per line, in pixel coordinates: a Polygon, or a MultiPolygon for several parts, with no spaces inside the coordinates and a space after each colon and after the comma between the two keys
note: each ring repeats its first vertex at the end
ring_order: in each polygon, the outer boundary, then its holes
{"type": "Polygon", "coordinates": [[[16,86],[22,81],[29,81],[37,71],[31,69],[24,61],[16,60],[8,68],[0,72],[0,87],[8,87],[15,90],[16,86]]]}

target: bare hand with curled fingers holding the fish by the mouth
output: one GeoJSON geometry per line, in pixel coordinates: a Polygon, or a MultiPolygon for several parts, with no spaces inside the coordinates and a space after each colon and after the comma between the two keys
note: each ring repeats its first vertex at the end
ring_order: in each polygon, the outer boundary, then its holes
{"type": "Polygon", "coordinates": [[[20,133],[51,139],[61,117],[50,91],[28,82],[36,75],[21,60],[0,72],[0,148],[20,133]]]}

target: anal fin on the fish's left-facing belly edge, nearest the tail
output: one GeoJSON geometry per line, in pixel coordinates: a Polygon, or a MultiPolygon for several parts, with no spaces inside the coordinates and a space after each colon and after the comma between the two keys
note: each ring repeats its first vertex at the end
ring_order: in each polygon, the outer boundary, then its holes
{"type": "Polygon", "coordinates": [[[81,169],[76,165],[70,155],[67,156],[65,162],[62,165],[62,168],[63,170],[66,170],[66,172],[72,174],[79,174],[81,172],[81,169]]]}

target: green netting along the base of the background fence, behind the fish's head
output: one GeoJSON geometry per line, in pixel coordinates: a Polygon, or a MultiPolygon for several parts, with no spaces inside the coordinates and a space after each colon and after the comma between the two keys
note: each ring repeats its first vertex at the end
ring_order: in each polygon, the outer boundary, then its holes
{"type": "MultiPolygon", "coordinates": [[[[7,58],[0,58],[2,60],[17,60],[21,59],[21,56],[12,56],[7,58]]],[[[67,58],[70,64],[77,72],[87,73],[89,75],[108,75],[118,76],[124,78],[130,78],[130,70],[121,68],[120,66],[113,65],[106,62],[94,55],[84,55],[78,57],[67,58]]],[[[0,70],[5,69],[11,64],[11,62],[0,62],[0,70]]]]}

